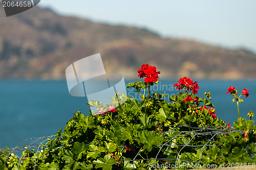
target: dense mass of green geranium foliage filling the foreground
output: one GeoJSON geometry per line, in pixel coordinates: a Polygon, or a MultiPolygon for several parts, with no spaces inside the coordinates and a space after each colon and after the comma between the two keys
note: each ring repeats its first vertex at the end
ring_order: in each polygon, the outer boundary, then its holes
{"type": "MultiPolygon", "coordinates": [[[[127,87],[140,92],[152,85],[135,82],[127,87]]],[[[77,111],[64,132],[60,129],[40,151],[26,150],[20,160],[15,155],[8,156],[8,152],[0,153],[0,168],[6,163],[7,169],[148,169],[149,163],[182,164],[200,162],[202,158],[209,164],[254,162],[256,133],[252,120],[240,118],[234,123],[234,129],[244,130],[243,133],[230,130],[228,136],[212,136],[206,127],[222,130],[227,126],[211,116],[214,105],[207,100],[209,95],[201,99],[193,93],[178,93],[170,97],[171,103],[162,100],[164,96],[144,94],[142,101],[128,96],[115,112],[107,111],[104,115],[84,116],[77,111]],[[185,102],[188,95],[198,100],[185,102]],[[203,135],[195,137],[198,128],[203,135]]],[[[122,100],[122,95],[117,100],[122,100]]],[[[113,106],[117,102],[113,100],[113,106]]],[[[105,106],[98,101],[88,104],[105,106]]]]}

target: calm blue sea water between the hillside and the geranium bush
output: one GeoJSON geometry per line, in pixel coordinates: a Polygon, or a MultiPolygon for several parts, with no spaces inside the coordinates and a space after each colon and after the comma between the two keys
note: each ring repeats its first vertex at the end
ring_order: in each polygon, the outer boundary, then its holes
{"type": "MultiPolygon", "coordinates": [[[[138,80],[125,83],[133,81],[138,80]]],[[[161,80],[152,91],[177,94],[175,83],[177,80],[161,80]]],[[[240,116],[248,119],[249,111],[256,113],[255,80],[199,80],[198,84],[198,95],[204,98],[204,92],[211,92],[216,115],[226,123],[233,125],[238,119],[237,104],[231,102],[231,94],[226,94],[229,86],[235,86],[239,93],[243,88],[249,90],[247,99],[241,97],[244,103],[240,104],[240,116]]],[[[127,94],[138,98],[131,90],[127,89],[127,94]]],[[[71,96],[66,81],[0,81],[0,149],[14,148],[28,138],[55,135],[77,110],[89,114],[87,102],[87,98],[71,96]]]]}

